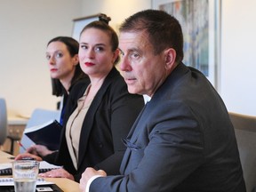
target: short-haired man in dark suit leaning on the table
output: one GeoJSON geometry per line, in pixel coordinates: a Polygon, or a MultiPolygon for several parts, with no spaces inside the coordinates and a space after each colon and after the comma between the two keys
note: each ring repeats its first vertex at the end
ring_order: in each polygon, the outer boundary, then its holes
{"type": "Polygon", "coordinates": [[[233,126],[207,78],[182,63],[178,20],[135,13],[120,28],[120,68],[131,93],[147,94],[124,144],[120,175],[87,168],[86,191],[245,192],[233,126]]]}

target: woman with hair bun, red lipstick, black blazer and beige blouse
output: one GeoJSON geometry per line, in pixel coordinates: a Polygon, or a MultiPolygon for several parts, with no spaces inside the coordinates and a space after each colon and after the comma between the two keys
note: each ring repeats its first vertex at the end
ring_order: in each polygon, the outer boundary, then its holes
{"type": "Polygon", "coordinates": [[[80,67],[91,84],[70,94],[70,102],[75,100],[76,104],[67,105],[69,118],[64,122],[59,152],[53,154],[54,163],[63,168],[40,174],[43,177],[79,181],[87,167],[103,169],[108,174],[119,172],[126,149],[122,139],[143,108],[144,100],[128,92],[124,77],[115,67],[119,42],[115,30],[108,26],[109,20],[100,14],[99,20],[89,23],[80,34],[80,67]]]}

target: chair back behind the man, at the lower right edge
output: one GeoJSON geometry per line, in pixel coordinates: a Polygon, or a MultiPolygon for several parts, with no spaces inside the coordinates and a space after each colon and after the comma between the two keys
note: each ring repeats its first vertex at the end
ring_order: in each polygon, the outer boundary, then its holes
{"type": "Polygon", "coordinates": [[[229,112],[235,128],[237,147],[247,192],[256,186],[256,116],[229,112]]]}

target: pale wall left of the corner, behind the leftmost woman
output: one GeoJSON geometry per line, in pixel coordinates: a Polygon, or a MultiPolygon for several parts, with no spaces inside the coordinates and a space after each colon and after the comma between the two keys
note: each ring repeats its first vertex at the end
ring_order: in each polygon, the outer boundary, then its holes
{"type": "Polygon", "coordinates": [[[70,36],[81,0],[1,0],[0,96],[8,116],[27,116],[34,108],[56,108],[45,60],[46,44],[70,36]]]}

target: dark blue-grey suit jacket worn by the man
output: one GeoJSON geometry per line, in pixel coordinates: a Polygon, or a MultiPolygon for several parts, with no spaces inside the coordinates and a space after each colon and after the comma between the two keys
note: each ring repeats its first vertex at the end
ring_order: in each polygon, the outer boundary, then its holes
{"type": "Polygon", "coordinates": [[[212,84],[178,65],[132,126],[121,175],[91,191],[245,192],[234,128],[212,84]]]}

